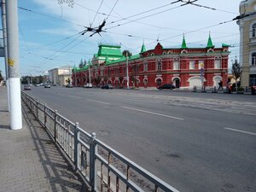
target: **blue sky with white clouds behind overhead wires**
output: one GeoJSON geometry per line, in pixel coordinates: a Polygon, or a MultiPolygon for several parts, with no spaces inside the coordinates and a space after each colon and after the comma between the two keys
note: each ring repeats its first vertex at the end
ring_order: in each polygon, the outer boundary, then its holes
{"type": "MultiPolygon", "coordinates": [[[[181,47],[183,35],[188,47],[206,47],[209,33],[215,47],[230,44],[231,67],[231,61],[239,58],[239,26],[233,19],[239,15],[241,0],[195,2],[212,9],[175,1],[19,0],[20,76],[78,67],[97,53],[98,44],[119,44],[136,55],[143,44],[154,49],[157,41],[164,48],[181,47]],[[81,35],[103,20],[101,36],[81,35]]],[[[0,70],[5,76],[3,58],[0,70]]]]}

